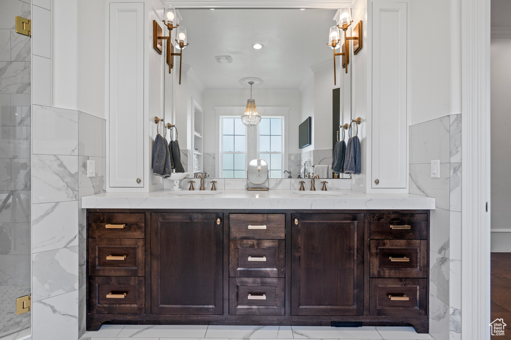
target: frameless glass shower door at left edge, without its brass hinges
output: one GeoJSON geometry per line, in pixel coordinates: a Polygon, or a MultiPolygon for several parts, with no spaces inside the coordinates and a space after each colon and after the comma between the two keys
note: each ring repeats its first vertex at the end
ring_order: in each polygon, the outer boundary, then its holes
{"type": "Polygon", "coordinates": [[[0,3],[0,337],[30,327],[14,299],[30,293],[30,38],[14,30],[30,18],[19,0],[0,3]]]}

